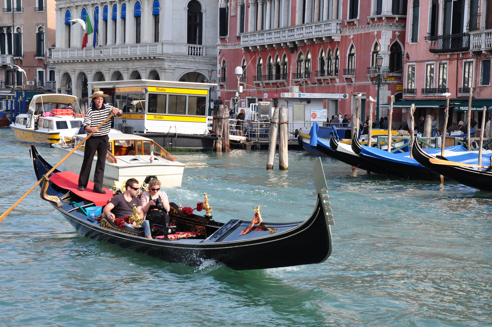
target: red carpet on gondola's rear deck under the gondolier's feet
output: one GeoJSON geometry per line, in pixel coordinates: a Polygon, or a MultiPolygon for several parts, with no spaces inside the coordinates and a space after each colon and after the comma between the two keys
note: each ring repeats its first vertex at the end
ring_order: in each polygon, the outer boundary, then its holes
{"type": "Polygon", "coordinates": [[[50,181],[60,186],[63,189],[70,190],[78,196],[85,198],[86,200],[94,202],[98,207],[102,207],[108,203],[108,200],[113,197],[113,192],[108,189],[102,188],[107,191],[106,194],[94,193],[94,182],[89,181],[85,191],[79,191],[79,175],[71,171],[62,171],[53,174],[50,177],[50,181]]]}

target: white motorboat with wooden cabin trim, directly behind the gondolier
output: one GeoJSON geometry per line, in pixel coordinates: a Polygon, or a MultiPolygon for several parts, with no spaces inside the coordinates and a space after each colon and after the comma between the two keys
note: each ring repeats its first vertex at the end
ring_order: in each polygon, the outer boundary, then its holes
{"type": "MultiPolygon", "coordinates": [[[[78,129],[67,130],[60,134],[60,143],[54,144],[61,157],[66,156],[74,146],[80,143],[87,134],[76,134],[78,129]]],[[[111,130],[109,150],[106,155],[103,185],[106,188],[124,185],[129,178],[136,178],[140,184],[150,176],[155,176],[162,187],[181,186],[184,163],[176,159],[156,144],[152,139],[140,135],[123,134],[111,130]]],[[[64,164],[66,170],[80,173],[84,159],[84,145],[80,146],[68,157],[64,164]]],[[[94,156],[90,179],[94,178],[97,156],[94,156]]]]}

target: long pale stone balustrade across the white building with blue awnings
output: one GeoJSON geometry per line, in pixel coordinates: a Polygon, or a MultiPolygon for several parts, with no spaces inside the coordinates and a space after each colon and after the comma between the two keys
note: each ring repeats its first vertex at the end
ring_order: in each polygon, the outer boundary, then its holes
{"type": "MultiPolygon", "coordinates": [[[[204,45],[174,45],[172,54],[181,54],[190,57],[205,57],[204,45]]],[[[162,43],[139,43],[128,45],[107,45],[96,48],[84,49],[51,48],[48,58],[52,62],[71,61],[99,61],[99,60],[130,60],[130,59],[155,59],[169,55],[162,43]]],[[[210,56],[210,55],[209,55],[210,56]]]]}

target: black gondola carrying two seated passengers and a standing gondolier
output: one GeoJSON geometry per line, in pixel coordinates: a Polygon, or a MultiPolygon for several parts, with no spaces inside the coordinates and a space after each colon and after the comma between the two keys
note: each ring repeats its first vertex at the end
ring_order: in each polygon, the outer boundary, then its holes
{"type": "MultiPolygon", "coordinates": [[[[52,166],[31,146],[34,173],[39,180],[52,166]]],[[[55,170],[54,173],[59,172],[55,170]]],[[[50,175],[51,176],[51,175],[50,175]]],[[[50,177],[48,176],[48,177],[50,177]]],[[[78,206],[92,207],[94,203],[46,180],[41,183],[41,197],[50,201],[66,220],[82,235],[107,241],[125,249],[135,250],[167,262],[198,265],[203,260],[221,262],[232,269],[264,269],[299,264],[321,263],[332,252],[333,215],[327,194],[326,179],[318,158],[313,167],[317,201],[313,212],[303,222],[264,223],[261,228],[240,235],[250,222],[231,219],[223,224],[205,216],[185,215],[176,204],[170,203],[169,216],[183,232],[194,231],[200,235],[192,239],[149,239],[139,236],[135,229],[117,227],[103,217],[100,222],[88,218],[78,206]]]]}

